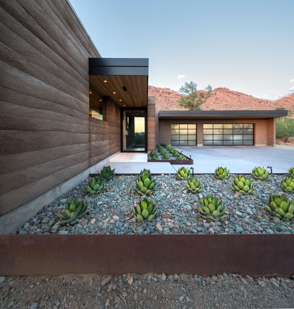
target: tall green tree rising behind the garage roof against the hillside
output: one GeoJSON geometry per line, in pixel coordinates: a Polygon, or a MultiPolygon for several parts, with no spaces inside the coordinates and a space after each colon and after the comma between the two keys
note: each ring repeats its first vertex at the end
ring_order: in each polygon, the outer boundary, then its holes
{"type": "Polygon", "coordinates": [[[201,105],[205,103],[209,97],[215,95],[210,85],[204,88],[204,90],[205,91],[197,91],[197,84],[193,81],[190,81],[190,83],[185,82],[185,85],[179,90],[181,97],[177,102],[180,106],[188,110],[201,110],[201,105]]]}

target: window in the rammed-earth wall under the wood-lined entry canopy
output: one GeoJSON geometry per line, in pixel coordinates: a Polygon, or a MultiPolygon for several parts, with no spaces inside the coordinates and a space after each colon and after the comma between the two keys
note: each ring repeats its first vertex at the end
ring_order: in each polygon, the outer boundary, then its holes
{"type": "Polygon", "coordinates": [[[105,96],[89,82],[89,116],[106,121],[105,96]]]}

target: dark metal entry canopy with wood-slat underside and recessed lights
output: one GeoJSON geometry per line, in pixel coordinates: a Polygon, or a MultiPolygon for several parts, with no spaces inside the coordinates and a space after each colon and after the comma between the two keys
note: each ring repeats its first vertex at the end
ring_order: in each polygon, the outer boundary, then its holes
{"type": "Polygon", "coordinates": [[[89,58],[89,81],[120,106],[145,107],[148,62],[148,58],[89,58]]]}

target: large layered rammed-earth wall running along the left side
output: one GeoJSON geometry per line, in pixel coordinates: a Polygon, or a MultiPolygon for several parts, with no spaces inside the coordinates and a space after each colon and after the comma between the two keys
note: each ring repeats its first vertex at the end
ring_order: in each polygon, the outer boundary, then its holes
{"type": "Polygon", "coordinates": [[[118,151],[120,110],[88,116],[99,53],[66,0],[2,1],[0,17],[2,215],[118,151]]]}

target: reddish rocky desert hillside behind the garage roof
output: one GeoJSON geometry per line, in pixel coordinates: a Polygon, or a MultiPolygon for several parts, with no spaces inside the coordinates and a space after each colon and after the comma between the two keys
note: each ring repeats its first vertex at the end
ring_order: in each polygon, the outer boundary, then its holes
{"type": "MultiPolygon", "coordinates": [[[[277,107],[284,107],[294,112],[294,94],[276,101],[262,100],[242,92],[232,91],[227,88],[214,89],[215,96],[211,96],[202,110],[275,110],[277,107]]],[[[169,88],[148,86],[148,94],[156,96],[156,105],[159,110],[183,110],[176,100],[180,94],[169,88]]]]}

